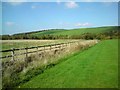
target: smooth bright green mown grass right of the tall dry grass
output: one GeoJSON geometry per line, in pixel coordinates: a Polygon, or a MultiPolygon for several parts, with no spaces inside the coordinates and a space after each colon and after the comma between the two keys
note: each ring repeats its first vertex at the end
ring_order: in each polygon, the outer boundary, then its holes
{"type": "Polygon", "coordinates": [[[76,53],[20,87],[117,88],[118,42],[105,40],[76,53]]]}

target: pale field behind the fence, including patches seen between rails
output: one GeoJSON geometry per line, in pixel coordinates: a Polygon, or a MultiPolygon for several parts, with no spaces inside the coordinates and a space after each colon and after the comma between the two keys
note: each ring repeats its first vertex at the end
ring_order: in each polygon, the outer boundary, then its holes
{"type": "MultiPolygon", "coordinates": [[[[26,48],[26,47],[33,47],[33,46],[42,46],[42,45],[49,45],[49,44],[55,44],[55,43],[67,43],[70,41],[77,41],[77,40],[2,40],[0,43],[2,44],[2,48],[1,50],[8,50],[8,49],[12,49],[12,48],[26,48]]],[[[82,41],[82,40],[81,40],[82,41]]],[[[34,49],[29,49],[28,52],[33,51],[34,49]]],[[[19,51],[15,51],[16,53],[23,53],[25,52],[25,50],[19,50],[19,51]]],[[[11,55],[11,52],[3,52],[0,53],[2,54],[2,56],[6,56],[6,55],[11,55]]],[[[21,57],[21,56],[20,56],[21,57]]],[[[20,58],[19,56],[17,56],[16,58],[20,58]]],[[[24,58],[24,55],[23,55],[24,58]]],[[[11,60],[12,58],[6,58],[3,59],[2,61],[6,61],[6,60],[11,60]]]]}

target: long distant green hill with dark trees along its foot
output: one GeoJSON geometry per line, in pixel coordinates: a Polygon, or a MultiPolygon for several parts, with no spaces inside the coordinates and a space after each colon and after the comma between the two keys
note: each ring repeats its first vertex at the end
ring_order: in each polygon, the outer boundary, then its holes
{"type": "Polygon", "coordinates": [[[115,38],[118,26],[78,28],[78,29],[50,29],[14,35],[3,35],[2,39],[99,39],[115,38]]]}

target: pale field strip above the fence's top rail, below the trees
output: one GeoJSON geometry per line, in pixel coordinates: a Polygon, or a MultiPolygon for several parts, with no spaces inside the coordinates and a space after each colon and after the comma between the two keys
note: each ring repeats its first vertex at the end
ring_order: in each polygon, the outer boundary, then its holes
{"type": "Polygon", "coordinates": [[[76,40],[2,40],[2,50],[7,50],[11,48],[25,48],[39,45],[64,43],[76,40]]]}

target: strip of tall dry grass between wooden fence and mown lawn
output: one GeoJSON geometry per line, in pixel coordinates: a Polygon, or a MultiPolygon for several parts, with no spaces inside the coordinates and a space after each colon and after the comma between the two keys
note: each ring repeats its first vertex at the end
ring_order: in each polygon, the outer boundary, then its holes
{"type": "MultiPolygon", "coordinates": [[[[76,51],[84,50],[98,43],[97,40],[85,40],[68,45],[63,44],[58,49],[51,49],[29,54],[23,60],[3,62],[3,87],[15,87],[30,80],[33,76],[43,73],[45,69],[56,65],[60,58],[67,57],[76,51]]],[[[54,47],[51,47],[54,48],[54,47]]],[[[20,57],[19,57],[20,58],[20,57]]]]}

